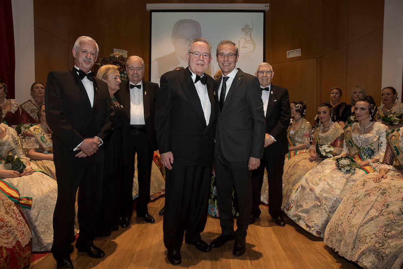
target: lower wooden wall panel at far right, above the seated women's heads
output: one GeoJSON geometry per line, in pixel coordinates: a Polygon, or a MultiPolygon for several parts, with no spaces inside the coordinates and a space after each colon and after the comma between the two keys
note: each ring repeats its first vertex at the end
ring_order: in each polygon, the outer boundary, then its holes
{"type": "Polygon", "coordinates": [[[361,85],[380,105],[383,28],[351,42],[347,53],[347,89],[361,85]]]}

